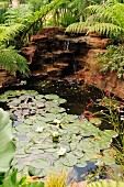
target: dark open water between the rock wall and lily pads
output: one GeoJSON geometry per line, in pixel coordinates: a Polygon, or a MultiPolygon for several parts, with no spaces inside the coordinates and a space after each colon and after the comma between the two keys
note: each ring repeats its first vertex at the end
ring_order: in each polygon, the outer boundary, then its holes
{"type": "MultiPolygon", "coordinates": [[[[92,107],[90,102],[95,101],[102,97],[102,94],[99,89],[94,87],[83,87],[79,88],[76,82],[68,81],[29,81],[26,85],[19,86],[11,85],[11,87],[5,87],[0,90],[0,94],[5,90],[16,90],[16,89],[26,89],[26,90],[36,90],[40,94],[56,94],[61,98],[67,99],[67,103],[64,107],[67,109],[68,113],[80,116],[84,110],[97,111],[97,106],[92,107]],[[89,107],[88,107],[89,106],[89,107]]],[[[1,106],[2,103],[0,103],[1,106]]]]}

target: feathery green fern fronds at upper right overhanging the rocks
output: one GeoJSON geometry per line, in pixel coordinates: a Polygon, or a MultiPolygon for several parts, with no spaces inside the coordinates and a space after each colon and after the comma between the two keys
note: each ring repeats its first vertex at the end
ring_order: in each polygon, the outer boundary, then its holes
{"type": "Polygon", "coordinates": [[[69,25],[66,32],[97,32],[109,37],[123,38],[124,35],[124,4],[116,0],[108,0],[104,4],[90,6],[86,9],[86,22],[69,25]]]}

